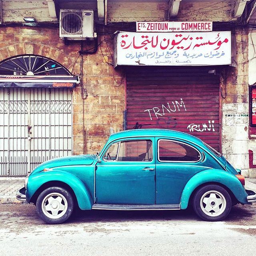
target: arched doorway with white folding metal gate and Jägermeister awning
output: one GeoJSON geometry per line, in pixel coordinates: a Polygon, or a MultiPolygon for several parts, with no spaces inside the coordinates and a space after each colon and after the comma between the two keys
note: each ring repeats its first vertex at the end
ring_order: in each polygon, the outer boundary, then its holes
{"type": "Polygon", "coordinates": [[[26,176],[72,154],[72,88],[78,78],[44,56],[0,62],[0,176],[26,176]]]}

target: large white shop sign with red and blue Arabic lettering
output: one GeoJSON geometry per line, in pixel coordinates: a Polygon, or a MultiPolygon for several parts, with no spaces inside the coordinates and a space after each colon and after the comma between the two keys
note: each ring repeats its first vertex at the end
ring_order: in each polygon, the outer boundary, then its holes
{"type": "Polygon", "coordinates": [[[114,65],[231,64],[231,32],[136,33],[115,36],[114,65]]]}

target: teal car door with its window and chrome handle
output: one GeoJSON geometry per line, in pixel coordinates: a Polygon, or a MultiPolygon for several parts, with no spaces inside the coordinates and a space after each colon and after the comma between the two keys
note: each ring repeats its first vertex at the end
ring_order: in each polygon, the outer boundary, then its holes
{"type": "Polygon", "coordinates": [[[97,204],[155,204],[154,138],[108,146],[96,168],[97,204]]]}

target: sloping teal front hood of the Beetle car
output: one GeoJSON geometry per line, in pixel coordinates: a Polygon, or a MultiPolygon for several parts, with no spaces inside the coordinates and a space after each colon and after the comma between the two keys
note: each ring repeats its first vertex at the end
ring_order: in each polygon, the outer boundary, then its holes
{"type": "Polygon", "coordinates": [[[39,164],[31,174],[41,172],[45,168],[54,168],[60,166],[70,166],[70,165],[91,165],[96,159],[96,155],[79,155],[79,156],[64,156],[60,158],[54,158],[39,164]]]}

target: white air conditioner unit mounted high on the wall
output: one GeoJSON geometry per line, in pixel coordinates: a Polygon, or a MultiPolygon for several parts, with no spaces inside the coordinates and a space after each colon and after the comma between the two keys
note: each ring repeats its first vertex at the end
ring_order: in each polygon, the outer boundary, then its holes
{"type": "Polygon", "coordinates": [[[93,10],[60,10],[60,38],[95,38],[93,10]]]}

